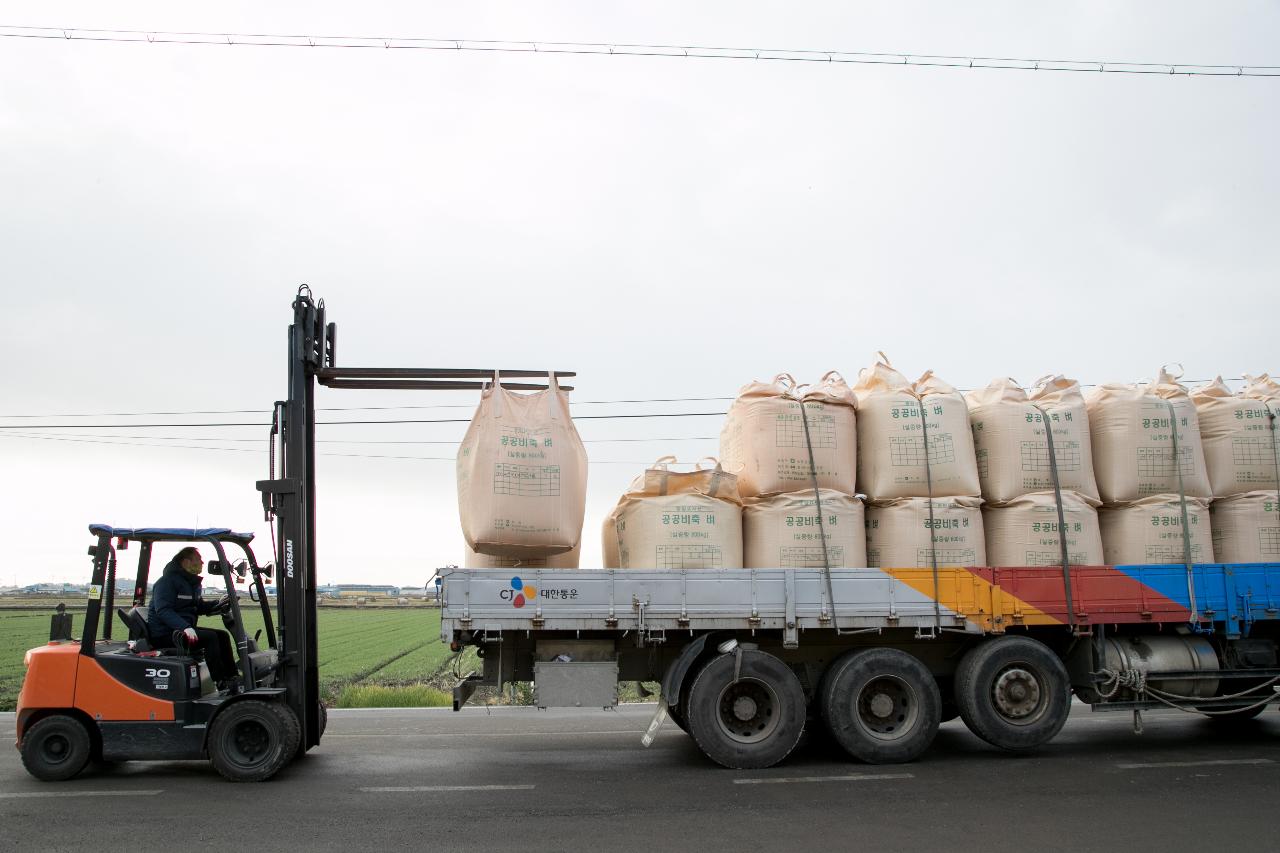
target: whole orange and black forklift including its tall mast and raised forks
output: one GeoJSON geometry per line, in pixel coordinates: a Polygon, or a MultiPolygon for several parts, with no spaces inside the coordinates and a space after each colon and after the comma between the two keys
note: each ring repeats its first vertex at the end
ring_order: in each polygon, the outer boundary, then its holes
{"type": "MultiPolygon", "coordinates": [[[[228,529],[116,529],[92,525],[97,543],[93,580],[78,642],[51,639],[27,652],[27,676],[18,699],[18,749],[27,770],[44,780],[77,775],[93,758],[173,761],[209,758],[232,781],[262,781],[320,744],[326,712],[320,702],[316,648],[316,384],[328,388],[483,391],[495,377],[515,391],[547,384],[508,382],[540,378],[547,370],[340,368],[338,332],[326,321],[324,300],[302,284],[293,300],[288,334],[288,396],[271,410],[268,479],[257,482],[262,511],[273,525],[276,613],[273,624],[252,534],[228,529]],[[276,459],[280,469],[276,471],[276,459]],[[113,540],[115,544],[113,544],[113,540]],[[133,607],[120,611],[131,639],[111,637],[115,552],[141,543],[133,607]],[[207,670],[182,649],[148,649],[145,625],[147,569],[155,542],[206,542],[216,561],[206,571],[225,580],[225,617],[236,642],[241,692],[206,689],[207,670]],[[238,546],[234,566],[224,544],[238,546]],[[266,648],[244,635],[233,575],[252,574],[251,597],[262,608],[266,648]],[[104,616],[106,613],[108,616],[104,616]],[[97,639],[99,628],[102,637],[97,639]],[[137,634],[137,639],[133,635],[137,634]],[[159,653],[156,653],[159,652],[159,653]],[[160,681],[160,672],[166,676],[160,681]],[[164,686],[160,686],[160,684],[164,686]],[[28,758],[29,756],[29,758],[28,758]]],[[[554,371],[557,379],[576,375],[554,371]]],[[[561,384],[564,391],[571,386],[561,384]]]]}

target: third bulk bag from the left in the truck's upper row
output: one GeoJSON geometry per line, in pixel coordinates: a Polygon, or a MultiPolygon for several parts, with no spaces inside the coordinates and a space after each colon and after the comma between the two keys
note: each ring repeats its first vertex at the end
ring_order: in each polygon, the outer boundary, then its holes
{"type": "Polygon", "coordinates": [[[1046,377],[1028,396],[1012,379],[996,379],[965,401],[982,497],[988,502],[1053,488],[1046,425],[1052,429],[1059,488],[1098,500],[1089,416],[1075,380],[1046,377]]]}

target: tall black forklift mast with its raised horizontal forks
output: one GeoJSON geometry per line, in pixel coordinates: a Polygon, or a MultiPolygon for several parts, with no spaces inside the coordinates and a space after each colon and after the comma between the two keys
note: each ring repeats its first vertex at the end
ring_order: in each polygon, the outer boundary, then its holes
{"type": "MultiPolygon", "coordinates": [[[[402,391],[479,391],[494,377],[541,378],[549,370],[339,368],[337,325],[325,318],[324,300],[306,284],[293,300],[289,325],[288,398],[271,415],[270,476],[257,482],[262,510],[275,524],[275,573],[280,684],[302,727],[301,744],[320,743],[320,674],[316,656],[316,383],[329,388],[402,391]],[[279,448],[280,471],[275,457],[279,448]]],[[[577,375],[554,371],[557,380],[577,375]]],[[[541,391],[545,383],[503,382],[515,391],[541,391]]],[[[561,386],[572,391],[570,386],[561,386]]]]}

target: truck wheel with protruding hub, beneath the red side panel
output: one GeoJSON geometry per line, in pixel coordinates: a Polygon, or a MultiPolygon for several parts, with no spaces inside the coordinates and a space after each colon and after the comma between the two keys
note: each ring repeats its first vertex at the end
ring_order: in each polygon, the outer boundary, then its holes
{"type": "Polygon", "coordinates": [[[1071,686],[1047,646],[1001,637],[973,648],[956,671],[956,704],[969,730],[1001,749],[1034,749],[1066,724],[1071,686]]]}

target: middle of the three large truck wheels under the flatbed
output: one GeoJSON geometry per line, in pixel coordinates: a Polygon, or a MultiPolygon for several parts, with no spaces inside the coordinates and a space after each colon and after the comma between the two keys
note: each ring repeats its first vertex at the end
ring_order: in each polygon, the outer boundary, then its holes
{"type": "Polygon", "coordinates": [[[933,674],[893,648],[869,648],[832,665],[822,690],[827,729],[854,758],[873,765],[918,758],[942,713],[933,674]]]}

